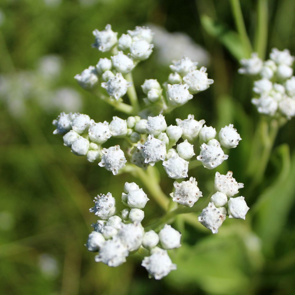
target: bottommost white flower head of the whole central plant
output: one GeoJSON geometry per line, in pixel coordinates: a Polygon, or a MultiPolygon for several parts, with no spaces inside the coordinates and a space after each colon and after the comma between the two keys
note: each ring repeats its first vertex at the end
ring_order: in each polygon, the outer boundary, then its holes
{"type": "Polygon", "coordinates": [[[151,254],[142,260],[141,265],[156,280],[160,280],[167,276],[170,271],[176,270],[176,264],[172,263],[167,250],[155,247],[151,250],[151,254]]]}

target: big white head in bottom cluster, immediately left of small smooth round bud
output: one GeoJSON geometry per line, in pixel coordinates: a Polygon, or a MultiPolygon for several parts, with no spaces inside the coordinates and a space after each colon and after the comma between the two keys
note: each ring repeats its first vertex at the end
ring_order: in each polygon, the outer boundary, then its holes
{"type": "Polygon", "coordinates": [[[118,237],[129,251],[137,250],[142,242],[144,229],[140,223],[121,223],[118,237]]]}

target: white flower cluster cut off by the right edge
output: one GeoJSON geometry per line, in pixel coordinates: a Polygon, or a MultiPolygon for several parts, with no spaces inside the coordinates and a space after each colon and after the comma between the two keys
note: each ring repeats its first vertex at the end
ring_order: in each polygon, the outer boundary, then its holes
{"type": "Polygon", "coordinates": [[[294,56],[288,49],[279,51],[277,48],[271,50],[270,59],[266,61],[262,61],[257,53],[241,60],[239,73],[260,76],[253,87],[258,97],[252,99],[259,113],[287,119],[295,116],[293,62],[294,56]]]}

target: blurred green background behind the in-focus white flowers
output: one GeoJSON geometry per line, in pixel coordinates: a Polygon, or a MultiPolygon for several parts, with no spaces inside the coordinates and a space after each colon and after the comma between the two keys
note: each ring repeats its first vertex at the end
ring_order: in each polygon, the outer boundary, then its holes
{"type": "MultiPolygon", "coordinates": [[[[251,40],[258,2],[241,1],[251,40]]],[[[295,1],[266,2],[266,53],[278,47],[295,55],[295,1]]],[[[233,31],[228,1],[0,1],[0,294],[295,294],[295,120],[279,131],[266,175],[250,191],[246,171],[259,115],[250,103],[253,81],[237,73],[235,48],[224,47],[233,31]],[[73,78],[107,56],[91,44],[92,31],[108,23],[119,35],[136,25],[155,31],[154,53],[134,71],[141,98],[143,81],[166,81],[173,59],[188,55],[207,66],[214,84],[169,114],[168,124],[194,114],[216,129],[233,123],[243,139],[218,171],[231,170],[245,184],[246,220],[227,219],[212,235],[176,219],[182,247],[170,255],[178,269],[161,281],[148,278],[137,254],[117,268],[94,262],[83,245],[96,222],[92,200],[109,190],[119,200],[134,178],[112,177],[52,134],[61,111],[96,122],[122,117],[73,78]]],[[[159,170],[168,195],[173,179],[159,170]]],[[[206,195],[216,171],[204,170],[190,176],[206,195]]],[[[146,218],[162,214],[151,200],[146,218]]]]}

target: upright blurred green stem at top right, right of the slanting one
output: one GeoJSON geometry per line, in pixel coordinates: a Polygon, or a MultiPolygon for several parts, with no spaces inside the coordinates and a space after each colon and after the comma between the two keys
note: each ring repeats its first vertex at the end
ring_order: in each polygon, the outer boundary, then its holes
{"type": "Polygon", "coordinates": [[[255,51],[259,57],[264,59],[268,35],[268,1],[258,0],[257,2],[257,28],[255,34],[255,51]]]}

